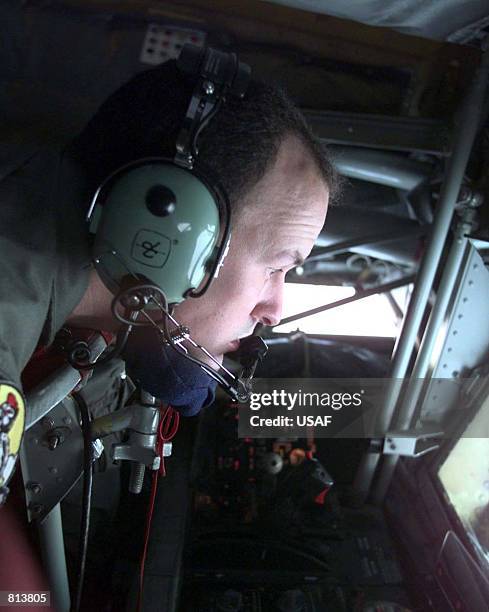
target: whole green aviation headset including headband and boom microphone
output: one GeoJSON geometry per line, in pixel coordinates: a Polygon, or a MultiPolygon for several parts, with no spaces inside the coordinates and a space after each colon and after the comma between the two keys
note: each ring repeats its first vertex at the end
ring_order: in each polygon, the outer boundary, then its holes
{"type": "Polygon", "coordinates": [[[95,267],[115,296],[112,312],[123,324],[115,348],[92,363],[88,347],[76,345],[68,359],[77,368],[95,367],[121,354],[133,327],[153,326],[162,342],[196,363],[233,399],[246,401],[267,350],[263,340],[250,337],[243,370],[235,376],[192,339],[190,330],[173,318],[172,307],[207,291],[229,249],[229,200],[199,162],[198,140],[229,96],[244,96],[251,71],[234,53],[194,45],[183,47],[177,66],[196,84],[175,156],[139,159],[119,168],[97,189],[87,217],[95,267]],[[204,353],[215,367],[192,356],[186,345],[204,353]]]}

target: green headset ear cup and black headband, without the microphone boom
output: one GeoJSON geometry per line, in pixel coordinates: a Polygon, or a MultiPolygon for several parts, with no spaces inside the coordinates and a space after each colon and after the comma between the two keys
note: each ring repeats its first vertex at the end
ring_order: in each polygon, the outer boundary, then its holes
{"type": "Polygon", "coordinates": [[[159,287],[168,304],[202,295],[229,248],[229,201],[199,163],[198,139],[229,96],[244,96],[250,76],[236,54],[194,45],[183,47],[177,66],[196,84],[174,158],[118,169],[88,213],[95,266],[110,291],[144,281],[159,287]]]}

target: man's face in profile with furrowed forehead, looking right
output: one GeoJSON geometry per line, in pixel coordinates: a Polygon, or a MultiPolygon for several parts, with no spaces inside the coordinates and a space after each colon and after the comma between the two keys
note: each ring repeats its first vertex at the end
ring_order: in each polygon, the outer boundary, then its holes
{"type": "Polygon", "coordinates": [[[246,196],[219,277],[201,298],[179,304],[175,318],[218,359],[257,323],[276,325],[285,274],[309,255],[327,206],[328,189],[314,162],[300,141],[287,138],[246,196]]]}

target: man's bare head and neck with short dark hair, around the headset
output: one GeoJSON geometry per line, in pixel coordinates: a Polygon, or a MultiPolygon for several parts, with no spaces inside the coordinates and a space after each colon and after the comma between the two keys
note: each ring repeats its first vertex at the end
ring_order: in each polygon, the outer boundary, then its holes
{"type": "MultiPolygon", "coordinates": [[[[93,188],[134,159],[174,154],[192,86],[167,62],[107,101],[71,150],[88,170],[93,188]]],[[[312,249],[336,175],[291,101],[257,82],[244,100],[230,99],[203,131],[199,161],[229,195],[232,240],[207,293],[185,300],[174,315],[222,360],[257,323],[280,320],[285,273],[312,249]]],[[[93,272],[68,322],[114,329],[112,297],[93,272]]]]}

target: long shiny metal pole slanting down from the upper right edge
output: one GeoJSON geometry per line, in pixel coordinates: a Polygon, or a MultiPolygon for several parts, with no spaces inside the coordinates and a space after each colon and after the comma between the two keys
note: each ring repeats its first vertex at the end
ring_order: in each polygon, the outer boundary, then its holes
{"type": "MultiPolygon", "coordinates": [[[[449,158],[446,169],[445,180],[440,194],[440,202],[436,210],[433,233],[416,279],[406,320],[399,339],[399,345],[393,360],[393,367],[390,374],[391,381],[386,392],[383,410],[379,416],[377,429],[384,433],[391,427],[393,414],[397,405],[398,385],[396,384],[396,379],[406,376],[418,329],[428,303],[443,246],[450,229],[450,223],[464,178],[465,168],[479,127],[481,108],[487,88],[488,68],[489,53],[486,52],[482,56],[481,64],[470,91],[457,116],[454,150],[449,158]]],[[[369,455],[371,454],[372,453],[369,453],[369,455]]],[[[354,483],[355,488],[359,492],[370,491],[375,469],[380,460],[380,454],[375,453],[374,457],[376,458],[375,461],[372,460],[371,456],[364,457],[364,460],[360,464],[354,483]]],[[[380,502],[381,499],[377,497],[377,503],[380,502]]]]}

